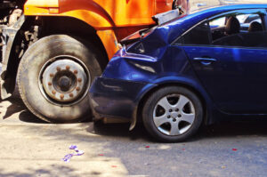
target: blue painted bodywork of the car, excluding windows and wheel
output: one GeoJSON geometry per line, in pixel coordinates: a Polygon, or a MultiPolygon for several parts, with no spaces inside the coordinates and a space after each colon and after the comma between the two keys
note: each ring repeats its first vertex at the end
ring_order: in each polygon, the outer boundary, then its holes
{"type": "Polygon", "coordinates": [[[193,12],[125,46],[93,83],[90,94],[95,112],[105,117],[134,118],[142,99],[153,89],[180,84],[203,101],[206,124],[225,119],[225,115],[267,116],[267,48],[174,44],[199,22],[244,9],[262,11],[267,4],[227,5],[193,12]],[[212,61],[196,60],[203,57],[212,61]]]}

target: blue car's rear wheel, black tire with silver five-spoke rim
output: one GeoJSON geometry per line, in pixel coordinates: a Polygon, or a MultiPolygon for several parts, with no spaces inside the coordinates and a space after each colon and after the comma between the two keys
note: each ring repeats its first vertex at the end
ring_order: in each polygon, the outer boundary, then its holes
{"type": "Polygon", "coordinates": [[[186,141],[198,131],[202,120],[198,96],[180,86],[167,86],[152,93],[142,109],[143,125],[158,141],[186,141]]]}

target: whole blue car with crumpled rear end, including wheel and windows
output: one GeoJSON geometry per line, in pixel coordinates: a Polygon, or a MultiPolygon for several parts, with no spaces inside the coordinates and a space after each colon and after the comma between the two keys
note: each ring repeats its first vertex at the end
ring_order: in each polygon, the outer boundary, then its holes
{"type": "Polygon", "coordinates": [[[129,119],[131,130],[140,121],[168,142],[226,118],[267,117],[266,9],[206,8],[129,36],[93,82],[95,117],[129,119]]]}

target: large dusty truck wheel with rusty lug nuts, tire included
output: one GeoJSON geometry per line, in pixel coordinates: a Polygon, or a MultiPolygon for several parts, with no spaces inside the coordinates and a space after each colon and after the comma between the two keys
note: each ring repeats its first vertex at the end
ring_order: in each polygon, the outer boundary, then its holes
{"type": "Polygon", "coordinates": [[[46,36],[20,61],[20,97],[36,117],[69,123],[91,116],[89,87],[104,57],[92,44],[67,35],[46,36]]]}

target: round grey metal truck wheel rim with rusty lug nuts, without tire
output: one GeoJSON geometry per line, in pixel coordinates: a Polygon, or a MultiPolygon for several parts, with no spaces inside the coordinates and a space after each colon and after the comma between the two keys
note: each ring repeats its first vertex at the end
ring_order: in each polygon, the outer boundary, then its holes
{"type": "Polygon", "coordinates": [[[85,64],[68,55],[48,60],[39,74],[39,87],[44,98],[60,106],[83,100],[90,83],[90,72],[85,64]]]}

